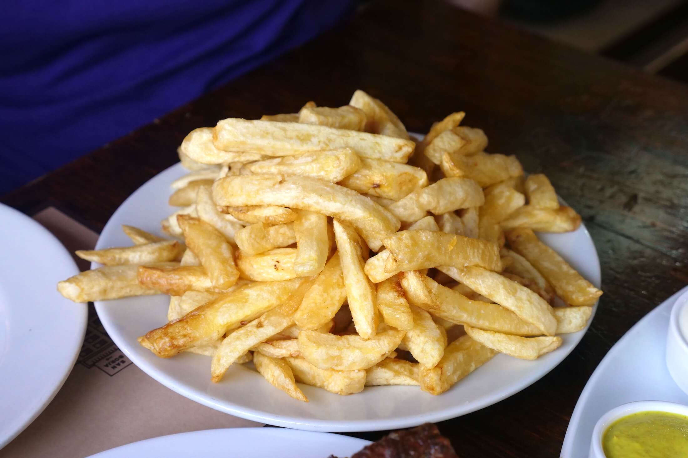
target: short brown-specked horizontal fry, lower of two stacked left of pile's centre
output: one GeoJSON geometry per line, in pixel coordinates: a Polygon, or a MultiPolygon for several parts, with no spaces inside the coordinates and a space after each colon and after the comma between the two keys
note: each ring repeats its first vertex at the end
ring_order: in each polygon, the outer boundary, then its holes
{"type": "Polygon", "coordinates": [[[297,277],[294,271],[295,248],[275,248],[257,255],[237,253],[237,268],[241,278],[254,282],[276,282],[297,277]]]}

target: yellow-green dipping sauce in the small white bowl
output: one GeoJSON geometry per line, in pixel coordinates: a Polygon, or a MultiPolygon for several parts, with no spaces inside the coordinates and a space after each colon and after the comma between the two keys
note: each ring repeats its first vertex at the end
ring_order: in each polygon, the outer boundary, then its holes
{"type": "Polygon", "coordinates": [[[647,411],[619,418],[602,437],[607,458],[688,457],[688,416],[647,411]]]}

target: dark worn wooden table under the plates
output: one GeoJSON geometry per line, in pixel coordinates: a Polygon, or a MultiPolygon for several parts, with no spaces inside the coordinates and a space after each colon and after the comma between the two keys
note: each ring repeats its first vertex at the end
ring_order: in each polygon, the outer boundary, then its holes
{"type": "MultiPolygon", "coordinates": [[[[579,393],[610,347],[688,283],[688,89],[487,21],[444,1],[379,1],[336,30],[155,119],[2,200],[55,205],[100,230],[175,148],[224,117],[384,100],[409,130],[452,111],[491,152],[545,172],[582,215],[602,264],[599,311],[559,367],[515,396],[442,422],[462,457],[556,457],[579,393]]],[[[375,439],[382,433],[361,437],[375,439]]]]}

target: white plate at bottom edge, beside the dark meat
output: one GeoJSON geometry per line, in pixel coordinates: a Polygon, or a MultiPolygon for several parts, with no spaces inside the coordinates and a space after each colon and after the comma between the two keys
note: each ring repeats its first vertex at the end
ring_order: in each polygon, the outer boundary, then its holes
{"type": "Polygon", "coordinates": [[[338,434],[281,428],[194,431],[133,442],[91,458],[326,458],[349,457],[370,441],[338,434]]]}

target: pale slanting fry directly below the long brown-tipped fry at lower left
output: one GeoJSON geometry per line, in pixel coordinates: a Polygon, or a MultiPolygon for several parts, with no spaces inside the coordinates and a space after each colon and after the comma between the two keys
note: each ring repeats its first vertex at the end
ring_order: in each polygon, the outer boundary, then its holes
{"type": "Polygon", "coordinates": [[[213,382],[222,380],[228,367],[235,363],[241,354],[248,352],[255,345],[270,339],[271,336],[294,323],[294,312],[301,305],[303,295],[312,286],[314,280],[315,277],[301,279],[299,286],[279,307],[265,312],[224,338],[211,363],[213,382]]]}

